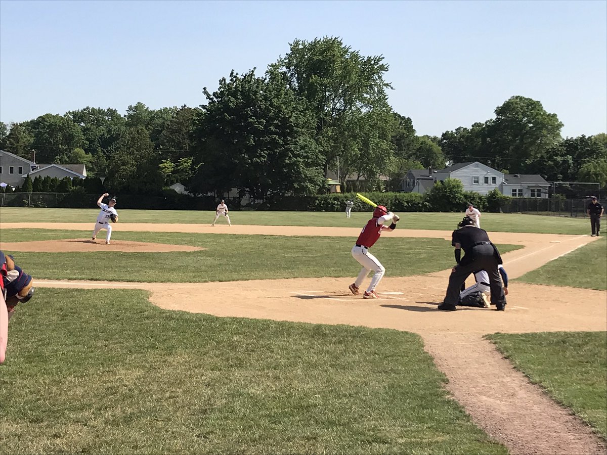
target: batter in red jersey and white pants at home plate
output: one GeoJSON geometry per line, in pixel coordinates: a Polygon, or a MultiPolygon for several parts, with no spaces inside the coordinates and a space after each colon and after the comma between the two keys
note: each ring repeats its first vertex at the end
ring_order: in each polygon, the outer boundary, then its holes
{"type": "Polygon", "coordinates": [[[367,277],[370,271],[373,271],[371,283],[367,291],[362,295],[362,298],[379,298],[375,293],[375,288],[379,285],[379,280],[384,276],[385,268],[368,250],[378,241],[382,231],[394,231],[399,219],[398,215],[388,212],[384,206],[375,207],[373,218],[368,220],[367,224],[362,228],[361,234],[352,248],[352,256],[362,265],[361,272],[356,277],[356,281],[348,286],[352,294],[359,294],[362,280],[367,277]],[[386,221],[392,221],[392,224],[384,226],[386,221]]]}

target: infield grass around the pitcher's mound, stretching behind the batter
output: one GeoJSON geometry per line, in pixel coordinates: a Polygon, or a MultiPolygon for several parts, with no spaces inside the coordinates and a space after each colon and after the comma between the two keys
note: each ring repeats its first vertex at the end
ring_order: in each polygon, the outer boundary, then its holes
{"type": "MultiPolygon", "coordinates": [[[[73,231],[3,229],[2,241],[74,238],[73,231]]],[[[114,242],[137,240],[187,244],[205,251],[125,253],[117,251],[42,253],[13,252],[36,278],[143,282],[193,282],[268,278],[355,277],[360,265],[350,253],[353,238],[282,237],[276,235],[120,232],[114,242]]],[[[521,248],[499,245],[501,252],[521,248]]],[[[450,242],[440,238],[390,238],[373,246],[387,276],[406,277],[447,269],[453,264],[450,242]]]]}

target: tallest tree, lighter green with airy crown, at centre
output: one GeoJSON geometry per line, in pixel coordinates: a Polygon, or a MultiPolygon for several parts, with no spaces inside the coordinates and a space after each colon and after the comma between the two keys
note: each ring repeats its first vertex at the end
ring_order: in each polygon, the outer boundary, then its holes
{"type": "Polygon", "coordinates": [[[392,87],[384,81],[388,65],[383,61],[383,56],[364,57],[341,39],[325,37],[310,42],[296,39],[290,52],[273,65],[285,73],[288,86],[314,115],[325,173],[337,157],[351,152],[350,144],[363,140],[356,130],[360,123],[352,117],[389,108],[385,91],[392,87]]]}

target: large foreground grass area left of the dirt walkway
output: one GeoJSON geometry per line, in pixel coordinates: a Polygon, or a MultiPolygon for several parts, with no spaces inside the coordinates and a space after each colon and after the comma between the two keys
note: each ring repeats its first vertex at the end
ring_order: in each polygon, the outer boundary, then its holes
{"type": "Polygon", "coordinates": [[[418,335],[39,289],[10,322],[0,453],[506,453],[418,335]]]}

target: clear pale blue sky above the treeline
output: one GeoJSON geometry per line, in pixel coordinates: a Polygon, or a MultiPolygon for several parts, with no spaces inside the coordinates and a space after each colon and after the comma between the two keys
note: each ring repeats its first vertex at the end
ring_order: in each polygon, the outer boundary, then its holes
{"type": "Polygon", "coordinates": [[[541,101],[563,136],[607,130],[607,1],[0,1],[0,120],[86,106],[199,106],[294,39],[383,55],[418,134],[541,101]]]}

